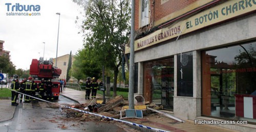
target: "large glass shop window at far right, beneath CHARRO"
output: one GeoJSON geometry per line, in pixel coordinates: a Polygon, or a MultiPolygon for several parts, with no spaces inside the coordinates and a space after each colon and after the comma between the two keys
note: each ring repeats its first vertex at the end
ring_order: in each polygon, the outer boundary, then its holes
{"type": "Polygon", "coordinates": [[[254,121],[256,42],[203,51],[202,82],[203,115],[254,121]]]}

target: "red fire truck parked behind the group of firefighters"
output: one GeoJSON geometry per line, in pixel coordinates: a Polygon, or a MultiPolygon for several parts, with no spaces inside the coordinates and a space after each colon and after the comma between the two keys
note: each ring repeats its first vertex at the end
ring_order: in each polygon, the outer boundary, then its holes
{"type": "Polygon", "coordinates": [[[35,78],[34,81],[37,83],[37,88],[38,84],[41,83],[42,78],[44,78],[45,81],[51,79],[53,84],[53,97],[54,100],[58,100],[60,92],[60,82],[58,81],[58,77],[61,74],[61,69],[53,66],[52,58],[48,61],[44,60],[44,58],[40,58],[39,60],[33,59],[30,65],[29,74],[35,78]]]}

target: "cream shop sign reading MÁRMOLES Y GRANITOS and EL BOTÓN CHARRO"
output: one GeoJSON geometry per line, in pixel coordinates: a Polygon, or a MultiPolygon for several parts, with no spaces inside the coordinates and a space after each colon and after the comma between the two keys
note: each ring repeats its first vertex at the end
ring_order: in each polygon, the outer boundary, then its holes
{"type": "MultiPolygon", "coordinates": [[[[160,29],[150,35],[135,41],[134,50],[140,50],[148,46],[175,38],[179,35],[190,33],[209,25],[246,14],[256,10],[256,0],[233,0],[227,1],[216,7],[207,9],[201,13],[191,16],[185,20],[176,22],[167,28],[160,29]]],[[[125,53],[130,48],[126,46],[125,53]]]]}

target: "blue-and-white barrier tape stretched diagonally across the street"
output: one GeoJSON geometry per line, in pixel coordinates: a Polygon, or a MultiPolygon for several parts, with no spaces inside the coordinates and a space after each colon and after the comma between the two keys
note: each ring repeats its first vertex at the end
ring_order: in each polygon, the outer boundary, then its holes
{"type": "MultiPolygon", "coordinates": [[[[7,88],[7,89],[10,89],[10,88],[7,88]]],[[[10,89],[10,90],[11,90],[11,91],[15,91],[15,90],[12,90],[12,89],[10,89]]],[[[19,91],[15,91],[15,92],[17,92],[17,93],[19,93],[19,94],[24,94],[24,93],[21,93],[21,92],[19,92],[19,91]]],[[[38,100],[41,100],[41,101],[53,103],[53,104],[59,105],[59,106],[61,106],[61,107],[65,107],[65,108],[72,109],[72,110],[75,110],[75,111],[78,111],[78,112],[82,112],[82,113],[86,113],[86,114],[91,114],[91,115],[94,115],[94,116],[99,116],[99,117],[106,118],[106,119],[109,119],[109,120],[114,120],[114,121],[118,121],[118,122],[130,124],[130,125],[134,125],[134,126],[138,126],[138,127],[142,127],[142,128],[146,128],[146,129],[151,129],[151,130],[156,130],[156,131],[161,131],[161,132],[168,132],[167,130],[157,129],[157,128],[150,127],[150,126],[145,126],[145,125],[141,125],[141,124],[137,124],[137,123],[133,123],[133,122],[129,122],[129,121],[124,121],[124,120],[120,120],[120,119],[115,119],[115,118],[108,117],[108,116],[102,116],[102,115],[95,114],[95,113],[91,113],[91,112],[88,112],[88,111],[79,110],[79,109],[76,109],[76,108],[68,107],[68,106],[63,105],[63,104],[59,104],[59,103],[47,101],[47,100],[44,100],[44,99],[40,99],[40,98],[31,96],[31,95],[27,95],[27,94],[24,94],[24,95],[29,96],[29,97],[32,97],[32,98],[35,98],[35,99],[38,99],[38,100]]],[[[61,108],[60,108],[60,109],[61,109],[61,108]]],[[[61,111],[61,110],[60,110],[60,111],[61,111]]]]}

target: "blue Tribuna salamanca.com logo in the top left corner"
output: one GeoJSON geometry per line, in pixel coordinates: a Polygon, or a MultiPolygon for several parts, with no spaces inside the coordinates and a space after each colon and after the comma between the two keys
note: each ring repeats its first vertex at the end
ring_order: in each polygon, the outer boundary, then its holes
{"type": "Polygon", "coordinates": [[[11,4],[6,3],[6,15],[7,16],[40,16],[40,9],[39,5],[22,5],[19,3],[11,4]]]}

